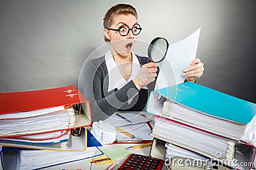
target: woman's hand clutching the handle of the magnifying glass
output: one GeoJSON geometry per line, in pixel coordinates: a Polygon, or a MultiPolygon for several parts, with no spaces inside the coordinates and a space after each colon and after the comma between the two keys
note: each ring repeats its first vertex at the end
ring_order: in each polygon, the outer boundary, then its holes
{"type": "Polygon", "coordinates": [[[141,66],[139,74],[132,81],[137,89],[141,89],[156,79],[157,65],[154,62],[148,62],[141,66]]]}

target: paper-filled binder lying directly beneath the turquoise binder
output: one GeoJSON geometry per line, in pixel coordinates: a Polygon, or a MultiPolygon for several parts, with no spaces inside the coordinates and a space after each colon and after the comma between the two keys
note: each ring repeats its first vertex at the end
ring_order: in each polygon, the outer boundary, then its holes
{"type": "Polygon", "coordinates": [[[159,116],[155,117],[152,134],[157,139],[200,153],[205,157],[209,157],[209,159],[223,162],[223,164],[230,162],[230,166],[234,168],[237,168],[237,165],[241,164],[241,162],[250,162],[248,167],[239,167],[239,169],[250,169],[255,157],[255,146],[253,145],[242,141],[234,141],[159,116]],[[172,135],[170,135],[171,129],[172,135]],[[237,150],[237,148],[239,149],[237,150]],[[234,163],[232,160],[237,162],[234,163]]]}

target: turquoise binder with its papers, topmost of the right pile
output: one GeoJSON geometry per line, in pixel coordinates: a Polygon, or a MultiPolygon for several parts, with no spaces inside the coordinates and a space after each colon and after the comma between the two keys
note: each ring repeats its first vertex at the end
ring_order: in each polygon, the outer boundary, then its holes
{"type": "Polygon", "coordinates": [[[256,143],[256,104],[196,83],[152,91],[147,111],[236,141],[256,143]]]}

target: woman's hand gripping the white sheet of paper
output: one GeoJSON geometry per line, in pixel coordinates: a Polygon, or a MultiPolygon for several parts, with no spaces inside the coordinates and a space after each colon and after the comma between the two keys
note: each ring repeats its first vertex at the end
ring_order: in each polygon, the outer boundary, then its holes
{"type": "Polygon", "coordinates": [[[182,76],[186,76],[187,81],[195,82],[196,79],[200,78],[204,72],[204,63],[200,59],[196,58],[190,62],[190,66],[184,69],[182,76]]]}

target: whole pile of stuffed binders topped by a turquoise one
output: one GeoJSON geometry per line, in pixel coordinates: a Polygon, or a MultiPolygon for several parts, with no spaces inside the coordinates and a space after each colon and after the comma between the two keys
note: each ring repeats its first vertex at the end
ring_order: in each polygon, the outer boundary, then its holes
{"type": "Polygon", "coordinates": [[[147,111],[156,115],[155,138],[227,167],[253,166],[256,104],[186,82],[151,92],[147,111]]]}

